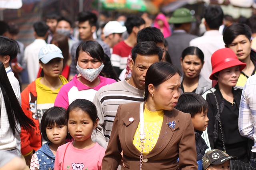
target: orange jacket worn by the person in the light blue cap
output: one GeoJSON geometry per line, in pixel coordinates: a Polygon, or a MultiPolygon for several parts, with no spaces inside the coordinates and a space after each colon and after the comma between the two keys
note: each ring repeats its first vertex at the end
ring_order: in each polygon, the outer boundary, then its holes
{"type": "Polygon", "coordinates": [[[40,133],[40,125],[36,112],[36,82],[33,81],[21,93],[21,106],[24,113],[34,121],[35,127],[33,133],[28,133],[21,128],[21,153],[22,155],[28,154],[31,150],[38,150],[42,145],[42,137],[40,133]]]}

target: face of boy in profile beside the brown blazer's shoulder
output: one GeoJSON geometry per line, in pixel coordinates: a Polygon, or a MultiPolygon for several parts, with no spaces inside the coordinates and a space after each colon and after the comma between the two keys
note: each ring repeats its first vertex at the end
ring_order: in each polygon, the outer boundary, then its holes
{"type": "Polygon", "coordinates": [[[201,113],[197,113],[192,119],[192,123],[194,126],[194,129],[197,131],[205,131],[206,127],[208,126],[208,117],[207,117],[207,111],[203,110],[201,113]]]}

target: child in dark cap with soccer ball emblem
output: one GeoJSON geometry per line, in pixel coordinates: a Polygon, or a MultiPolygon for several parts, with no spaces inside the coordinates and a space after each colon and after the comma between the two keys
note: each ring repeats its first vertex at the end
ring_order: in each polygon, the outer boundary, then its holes
{"type": "Polygon", "coordinates": [[[230,159],[237,160],[235,156],[229,156],[226,152],[212,149],[203,156],[204,170],[230,170],[230,159]]]}

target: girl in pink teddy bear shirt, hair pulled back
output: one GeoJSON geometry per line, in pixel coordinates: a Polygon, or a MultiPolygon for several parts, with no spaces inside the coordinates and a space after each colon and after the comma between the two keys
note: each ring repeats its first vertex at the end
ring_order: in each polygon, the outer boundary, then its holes
{"type": "Polygon", "coordinates": [[[96,106],[85,99],[76,99],[68,106],[68,130],[74,141],[58,148],[54,170],[101,170],[105,150],[91,139],[98,125],[96,106]]]}

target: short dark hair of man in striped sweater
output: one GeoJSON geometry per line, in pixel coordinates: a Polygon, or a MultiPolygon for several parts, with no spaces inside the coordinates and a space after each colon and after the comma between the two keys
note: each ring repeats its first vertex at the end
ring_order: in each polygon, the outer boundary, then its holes
{"type": "Polygon", "coordinates": [[[132,48],[132,60],[134,63],[138,54],[146,56],[158,55],[159,61],[161,61],[163,57],[163,49],[156,46],[156,43],[153,41],[144,41],[137,43],[132,48]]]}

